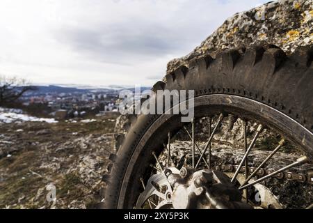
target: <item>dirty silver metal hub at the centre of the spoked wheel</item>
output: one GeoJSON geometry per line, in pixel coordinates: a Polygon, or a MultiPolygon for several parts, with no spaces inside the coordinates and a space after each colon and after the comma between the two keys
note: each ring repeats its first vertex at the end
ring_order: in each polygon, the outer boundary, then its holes
{"type": "Polygon", "coordinates": [[[161,199],[156,208],[252,208],[241,201],[242,192],[230,183],[227,175],[209,169],[196,171],[183,167],[179,171],[170,167],[160,174],[154,174],[139,196],[136,207],[141,208],[153,194],[161,199]],[[160,190],[162,187],[166,188],[163,192],[160,190]]]}

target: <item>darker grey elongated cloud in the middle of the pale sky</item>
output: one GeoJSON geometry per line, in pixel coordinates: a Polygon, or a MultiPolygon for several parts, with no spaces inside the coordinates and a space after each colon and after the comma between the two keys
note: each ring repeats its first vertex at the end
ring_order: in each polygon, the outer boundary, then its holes
{"type": "Polygon", "coordinates": [[[114,24],[98,27],[97,30],[63,29],[56,33],[58,40],[70,45],[72,50],[105,63],[131,64],[138,60],[154,59],[179,50],[184,41],[162,26],[153,29],[142,24],[141,30],[134,30],[130,24],[114,24]]]}

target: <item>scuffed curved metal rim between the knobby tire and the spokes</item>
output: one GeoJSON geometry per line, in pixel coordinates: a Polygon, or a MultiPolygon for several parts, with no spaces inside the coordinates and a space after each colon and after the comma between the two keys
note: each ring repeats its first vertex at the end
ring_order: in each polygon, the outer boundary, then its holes
{"type": "MultiPolygon", "coordinates": [[[[312,133],[296,121],[282,114],[278,110],[273,109],[272,107],[268,107],[267,105],[248,98],[221,94],[202,95],[197,97],[195,98],[194,105],[196,118],[223,113],[240,115],[243,118],[258,121],[259,123],[263,123],[269,128],[274,129],[275,132],[278,132],[283,137],[291,140],[297,146],[300,146],[303,151],[309,155],[309,157],[312,155],[312,133]]],[[[166,141],[168,138],[168,132],[174,135],[179,129],[183,128],[184,124],[179,123],[177,121],[178,118],[178,116],[173,115],[162,115],[157,117],[157,121],[150,126],[149,130],[147,130],[141,138],[141,141],[137,145],[131,160],[140,160],[139,157],[144,157],[146,155],[152,156],[152,151],[159,155],[163,149],[160,144],[163,144],[164,141],[166,141]],[[168,128],[164,128],[164,125],[167,125],[168,128]],[[160,131],[160,129],[163,130],[160,131]]],[[[153,162],[152,160],[153,157],[151,162],[153,162]]],[[[144,176],[143,181],[147,182],[149,171],[151,172],[151,167],[148,164],[130,162],[127,168],[128,174],[125,174],[125,176],[144,176]]],[[[138,193],[134,193],[132,196],[129,196],[129,192],[142,190],[140,189],[140,183],[134,181],[136,180],[131,180],[126,177],[124,178],[122,188],[120,190],[118,208],[129,208],[134,206],[138,193]]]]}

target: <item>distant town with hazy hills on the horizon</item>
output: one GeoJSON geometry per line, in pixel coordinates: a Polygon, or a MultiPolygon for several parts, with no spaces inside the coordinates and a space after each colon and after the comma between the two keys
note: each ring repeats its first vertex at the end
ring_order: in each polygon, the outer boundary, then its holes
{"type": "Polygon", "coordinates": [[[79,89],[56,85],[35,86],[34,91],[27,91],[19,100],[25,107],[42,107],[49,116],[57,119],[102,116],[118,112],[119,93],[122,89],[125,88],[79,89]]]}

